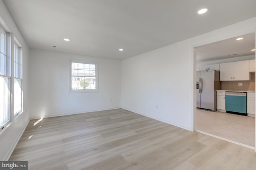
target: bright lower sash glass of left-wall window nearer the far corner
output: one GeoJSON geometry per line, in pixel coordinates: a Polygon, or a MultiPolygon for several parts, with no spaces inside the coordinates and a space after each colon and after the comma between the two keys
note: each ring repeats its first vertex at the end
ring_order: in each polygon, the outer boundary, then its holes
{"type": "Polygon", "coordinates": [[[21,80],[14,78],[14,114],[21,111],[22,90],[21,80]]]}

